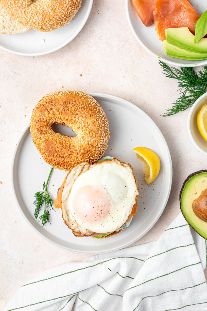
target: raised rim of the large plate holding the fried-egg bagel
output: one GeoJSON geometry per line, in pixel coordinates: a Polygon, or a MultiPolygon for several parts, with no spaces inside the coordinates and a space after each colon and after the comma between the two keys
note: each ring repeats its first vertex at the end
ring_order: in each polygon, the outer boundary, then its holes
{"type": "Polygon", "coordinates": [[[10,183],[11,183],[11,189],[12,189],[12,194],[13,194],[13,197],[15,199],[15,202],[16,202],[16,205],[20,211],[20,213],[23,215],[23,217],[25,218],[26,222],[29,224],[29,226],[36,232],[38,233],[38,235],[40,235],[43,239],[47,240],[49,243],[61,248],[61,249],[64,249],[64,250],[67,250],[67,251],[70,251],[70,252],[73,252],[73,253],[80,253],[80,254],[92,254],[92,255],[95,255],[95,254],[101,254],[101,253],[110,253],[110,252],[114,252],[116,250],[119,250],[119,249],[122,249],[122,248],[125,248],[125,247],[128,247],[129,245],[133,244],[134,242],[136,242],[138,239],[140,239],[142,236],[144,236],[154,225],[155,223],[157,222],[157,220],[160,218],[161,214],[163,213],[164,211],[164,208],[166,207],[166,204],[168,202],[168,199],[169,199],[169,195],[170,195],[170,191],[171,191],[171,187],[172,187],[172,179],[173,179],[173,166],[172,166],[172,159],[171,159],[171,155],[170,155],[170,151],[169,151],[169,147],[167,145],[167,142],[164,138],[164,135],[162,134],[162,132],[160,131],[160,129],[158,128],[158,126],[156,125],[156,123],[148,116],[148,114],[146,114],[141,108],[137,107],[135,104],[129,102],[128,100],[124,100],[123,98],[120,98],[118,96],[114,96],[114,95],[109,95],[109,94],[104,94],[104,93],[88,93],[89,95],[95,97],[95,96],[99,96],[102,98],[102,100],[104,99],[110,99],[110,100],[118,100],[118,101],[121,101],[123,104],[127,105],[127,106],[130,106],[132,108],[135,108],[139,111],[139,113],[141,113],[142,115],[144,115],[153,125],[154,127],[156,128],[156,130],[159,132],[160,134],[160,137],[162,138],[162,141],[164,143],[164,146],[165,146],[165,149],[166,149],[166,152],[167,152],[167,155],[168,155],[168,161],[169,161],[169,184],[168,184],[168,188],[167,188],[167,192],[166,192],[166,196],[165,196],[165,200],[162,204],[162,208],[160,208],[160,211],[159,213],[156,215],[156,217],[154,218],[154,220],[146,227],[146,229],[142,232],[142,234],[137,238],[135,237],[133,240],[130,240],[130,242],[126,242],[125,244],[123,244],[121,247],[120,246],[117,246],[115,248],[112,248],[110,250],[103,250],[103,251],[77,251],[77,250],[74,250],[73,248],[69,248],[69,247],[65,247],[65,246],[62,246],[54,241],[52,241],[51,239],[47,238],[44,234],[42,234],[41,232],[39,232],[32,224],[31,222],[29,221],[29,219],[25,216],[24,212],[22,211],[21,207],[20,207],[20,204],[18,202],[18,199],[17,199],[17,196],[16,196],[16,192],[15,192],[15,185],[14,185],[14,179],[13,179],[13,174],[14,174],[14,163],[15,163],[15,158],[16,158],[16,152],[18,150],[18,147],[19,147],[19,144],[23,138],[23,136],[25,135],[26,131],[29,129],[29,124],[28,123],[24,130],[21,132],[18,140],[17,140],[17,143],[16,143],[16,146],[14,148],[14,151],[13,151],[13,154],[12,154],[12,159],[11,159],[11,167],[10,167],[10,183]]]}

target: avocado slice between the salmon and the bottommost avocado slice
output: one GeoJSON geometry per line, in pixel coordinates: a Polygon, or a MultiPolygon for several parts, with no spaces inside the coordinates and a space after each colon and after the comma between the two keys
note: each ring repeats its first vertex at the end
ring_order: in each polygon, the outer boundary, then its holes
{"type": "Polygon", "coordinates": [[[207,39],[194,43],[195,36],[187,27],[165,29],[167,42],[189,52],[207,53],[207,39]]]}

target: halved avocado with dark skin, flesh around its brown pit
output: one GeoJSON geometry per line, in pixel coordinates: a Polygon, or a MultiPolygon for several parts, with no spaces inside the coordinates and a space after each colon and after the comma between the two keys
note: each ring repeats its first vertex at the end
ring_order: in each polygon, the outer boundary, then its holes
{"type": "MultiPolygon", "coordinates": [[[[201,220],[193,211],[194,200],[205,189],[207,189],[207,169],[190,174],[184,181],[180,191],[180,209],[189,225],[203,238],[207,239],[207,222],[201,220]]],[[[207,201],[203,203],[203,208],[206,212],[207,201]]]]}

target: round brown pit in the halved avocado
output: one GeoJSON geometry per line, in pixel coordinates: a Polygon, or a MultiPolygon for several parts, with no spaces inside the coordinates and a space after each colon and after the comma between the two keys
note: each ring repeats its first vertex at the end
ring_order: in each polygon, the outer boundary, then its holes
{"type": "Polygon", "coordinates": [[[193,201],[193,211],[198,218],[207,222],[207,189],[203,190],[193,201]]]}

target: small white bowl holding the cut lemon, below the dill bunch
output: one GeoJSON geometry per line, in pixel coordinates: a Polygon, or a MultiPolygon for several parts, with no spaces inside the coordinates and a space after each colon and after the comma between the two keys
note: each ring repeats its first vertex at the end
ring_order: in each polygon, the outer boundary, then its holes
{"type": "Polygon", "coordinates": [[[187,119],[187,129],[188,129],[188,134],[193,144],[196,146],[196,148],[200,152],[202,152],[204,155],[207,156],[207,142],[201,136],[198,130],[198,127],[197,127],[197,123],[196,123],[197,114],[200,108],[204,104],[206,104],[206,100],[207,100],[207,92],[201,95],[192,105],[190,113],[188,115],[188,119],[187,119]]]}

